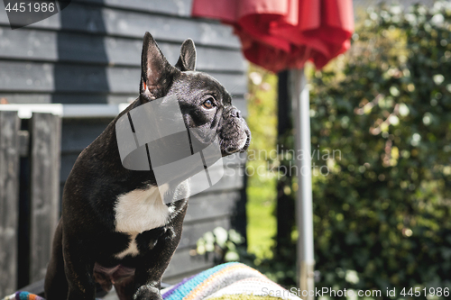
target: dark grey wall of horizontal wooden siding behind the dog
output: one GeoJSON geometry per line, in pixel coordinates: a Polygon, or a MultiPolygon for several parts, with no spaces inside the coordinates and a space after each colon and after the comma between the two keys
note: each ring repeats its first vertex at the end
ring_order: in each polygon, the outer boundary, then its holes
{"type": "MultiPolygon", "coordinates": [[[[246,64],[238,39],[226,25],[191,18],[190,9],[190,0],[75,0],[60,14],[14,31],[0,9],[0,98],[13,104],[118,104],[134,99],[148,31],[171,63],[179,57],[181,42],[193,39],[198,70],[222,82],[246,114],[246,64]]],[[[62,120],[61,191],[78,153],[110,121],[62,120]]],[[[244,177],[238,175],[244,159],[227,161],[229,171],[221,182],[190,200],[166,282],[213,265],[189,254],[203,232],[232,223],[244,230],[244,177]]]]}

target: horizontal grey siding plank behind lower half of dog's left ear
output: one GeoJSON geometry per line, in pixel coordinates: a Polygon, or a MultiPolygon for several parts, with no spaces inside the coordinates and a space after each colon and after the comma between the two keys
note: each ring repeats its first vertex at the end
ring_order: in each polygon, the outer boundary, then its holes
{"type": "MultiPolygon", "coordinates": [[[[84,92],[133,94],[139,86],[140,68],[96,67],[0,60],[0,91],[84,92]]],[[[246,93],[244,74],[208,72],[235,95],[246,93]]]]}

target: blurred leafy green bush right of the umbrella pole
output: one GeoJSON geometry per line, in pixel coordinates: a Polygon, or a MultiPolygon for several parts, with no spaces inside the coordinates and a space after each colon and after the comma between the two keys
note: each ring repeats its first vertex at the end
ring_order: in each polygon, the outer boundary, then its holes
{"type": "Polygon", "coordinates": [[[318,287],[451,287],[450,21],[370,11],[343,70],[314,74],[312,149],[340,151],[313,158],[318,287]]]}

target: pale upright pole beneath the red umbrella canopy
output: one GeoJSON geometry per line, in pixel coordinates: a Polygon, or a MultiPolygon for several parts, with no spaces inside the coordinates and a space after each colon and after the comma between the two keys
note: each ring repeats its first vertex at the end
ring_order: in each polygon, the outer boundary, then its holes
{"type": "Polygon", "coordinates": [[[299,232],[297,247],[299,297],[313,300],[315,298],[315,260],[313,256],[310,103],[307,78],[303,68],[290,71],[290,86],[295,135],[295,161],[299,184],[296,195],[296,224],[299,232]]]}

